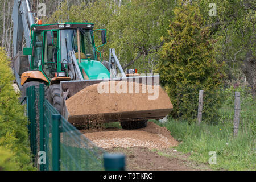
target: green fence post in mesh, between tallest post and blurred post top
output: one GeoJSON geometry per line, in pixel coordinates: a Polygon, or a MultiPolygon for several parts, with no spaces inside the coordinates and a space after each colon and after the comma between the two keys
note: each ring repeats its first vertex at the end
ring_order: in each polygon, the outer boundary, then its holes
{"type": "Polygon", "coordinates": [[[52,114],[52,169],[60,171],[60,114],[52,114]]]}

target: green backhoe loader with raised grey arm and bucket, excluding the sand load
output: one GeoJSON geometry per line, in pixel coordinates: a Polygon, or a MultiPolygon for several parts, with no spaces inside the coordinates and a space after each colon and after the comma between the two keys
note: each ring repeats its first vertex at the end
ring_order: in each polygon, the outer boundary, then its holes
{"type": "MultiPolygon", "coordinates": [[[[47,100],[69,122],[82,123],[97,115],[83,113],[70,116],[65,104],[68,98],[90,85],[113,80],[159,85],[159,75],[139,76],[135,73],[135,69],[129,69],[125,73],[114,49],[110,49],[109,60],[102,61],[98,47],[106,44],[105,29],[94,30],[93,23],[42,24],[41,21],[35,23],[35,19],[28,0],[14,0],[13,71],[15,81],[23,97],[29,86],[39,87],[40,83],[44,83],[47,100]],[[101,33],[100,46],[96,46],[94,40],[96,31],[101,33]],[[23,32],[26,47],[22,49],[23,32]]],[[[122,98],[119,99],[122,100],[122,98]]],[[[145,127],[148,119],[166,117],[171,110],[170,102],[170,106],[165,109],[156,106],[152,110],[120,112],[117,113],[118,117],[114,117],[112,113],[104,113],[101,120],[102,122],[121,122],[124,129],[136,129],[145,127]]]]}

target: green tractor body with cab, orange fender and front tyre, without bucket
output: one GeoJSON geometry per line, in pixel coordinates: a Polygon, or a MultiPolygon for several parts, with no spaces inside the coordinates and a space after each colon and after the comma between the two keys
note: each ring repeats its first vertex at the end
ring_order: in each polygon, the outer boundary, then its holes
{"type": "Polygon", "coordinates": [[[97,61],[93,35],[94,31],[102,31],[104,45],[106,30],[93,27],[92,23],[32,25],[31,47],[23,49],[23,55],[31,56],[31,60],[29,71],[20,77],[22,95],[28,86],[44,82],[48,100],[61,113],[60,81],[95,80],[100,74],[110,78],[102,60],[97,61]]]}

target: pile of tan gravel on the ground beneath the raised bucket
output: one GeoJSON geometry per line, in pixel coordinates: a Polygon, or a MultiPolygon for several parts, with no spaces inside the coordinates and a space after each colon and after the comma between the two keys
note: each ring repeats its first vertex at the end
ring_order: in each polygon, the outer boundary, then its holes
{"type": "Polygon", "coordinates": [[[110,149],[115,147],[147,147],[149,149],[165,149],[179,144],[166,128],[148,122],[146,128],[137,130],[106,129],[105,131],[82,131],[85,137],[99,147],[110,149]],[[89,132],[89,133],[88,133],[89,132]]]}

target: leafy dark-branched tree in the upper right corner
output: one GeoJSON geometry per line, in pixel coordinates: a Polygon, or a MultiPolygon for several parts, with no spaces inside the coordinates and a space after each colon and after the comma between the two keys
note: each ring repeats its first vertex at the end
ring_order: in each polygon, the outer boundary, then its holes
{"type": "Polygon", "coordinates": [[[218,39],[216,59],[219,62],[226,62],[227,81],[240,85],[247,81],[255,98],[255,1],[199,0],[198,2],[201,13],[207,19],[206,26],[210,27],[211,34],[218,39]],[[216,16],[208,15],[210,3],[216,4],[216,16]]]}

